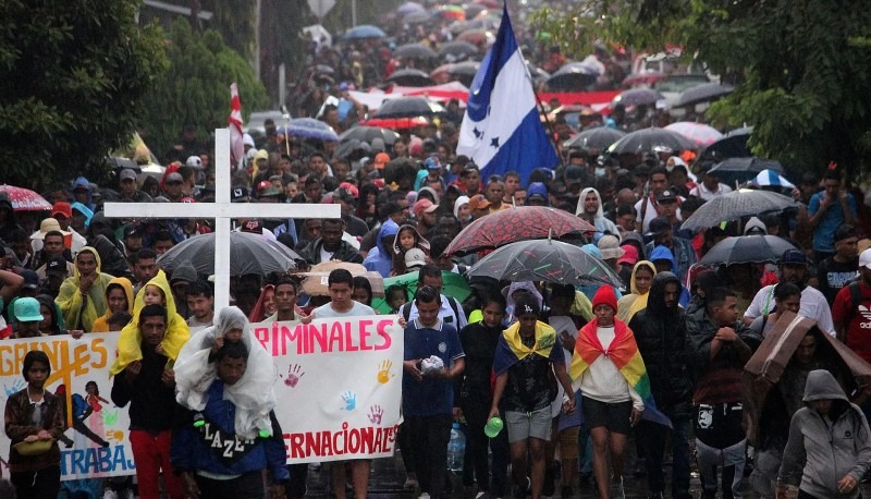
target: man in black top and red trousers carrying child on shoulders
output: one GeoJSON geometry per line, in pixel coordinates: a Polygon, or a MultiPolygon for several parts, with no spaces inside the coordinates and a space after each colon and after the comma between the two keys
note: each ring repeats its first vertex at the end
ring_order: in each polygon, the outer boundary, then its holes
{"type": "Polygon", "coordinates": [[[142,499],[158,499],[158,477],[170,499],[183,499],[185,492],[170,464],[170,430],[175,416],[175,376],[169,357],[157,346],[167,333],[167,308],[146,305],[139,312],[140,361],[133,361],[115,376],[112,402],[130,407],[130,442],[136,461],[136,477],[142,499]]]}

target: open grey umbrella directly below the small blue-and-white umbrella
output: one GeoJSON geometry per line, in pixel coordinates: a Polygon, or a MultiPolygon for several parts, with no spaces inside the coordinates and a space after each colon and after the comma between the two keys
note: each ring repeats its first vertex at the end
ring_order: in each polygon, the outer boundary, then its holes
{"type": "Polygon", "coordinates": [[[771,191],[753,188],[739,188],[704,203],[689,216],[680,229],[697,231],[708,229],[741,217],[759,216],[760,214],[783,211],[798,208],[798,202],[789,196],[771,191]]]}

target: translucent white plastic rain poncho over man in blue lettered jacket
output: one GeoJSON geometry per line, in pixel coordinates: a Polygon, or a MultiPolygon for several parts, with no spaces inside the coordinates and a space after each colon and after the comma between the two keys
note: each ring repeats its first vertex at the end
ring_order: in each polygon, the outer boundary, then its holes
{"type": "Polygon", "coordinates": [[[233,328],[242,329],[242,342],[248,349],[245,374],[235,385],[224,386],[224,400],[236,406],[236,435],[255,438],[259,430],[271,430],[269,412],[275,407],[275,367],[269,352],[248,327],[248,319],[237,307],[222,308],[214,325],[194,334],[175,361],[175,401],[192,411],[206,407],[206,393],[216,378],[209,354],[214,340],[233,328]]]}

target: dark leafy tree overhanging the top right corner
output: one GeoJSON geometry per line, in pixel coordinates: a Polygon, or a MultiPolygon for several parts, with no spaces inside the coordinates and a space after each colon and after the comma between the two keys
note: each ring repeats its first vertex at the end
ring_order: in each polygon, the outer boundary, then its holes
{"type": "Polygon", "coordinates": [[[601,0],[587,9],[540,13],[539,26],[565,46],[598,37],[652,51],[680,45],[737,84],[709,115],[752,124],[755,154],[794,169],[871,169],[867,2],[601,0]]]}

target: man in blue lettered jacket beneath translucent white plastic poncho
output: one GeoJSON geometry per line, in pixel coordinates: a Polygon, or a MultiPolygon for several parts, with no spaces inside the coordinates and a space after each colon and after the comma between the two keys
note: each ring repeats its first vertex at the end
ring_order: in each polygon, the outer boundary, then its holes
{"type": "Polygon", "coordinates": [[[236,435],[236,406],[224,398],[224,388],[242,379],[247,364],[245,343],[224,343],[214,354],[217,379],[208,388],[206,407],[188,411],[175,427],[172,465],[188,498],[262,498],[263,470],[269,471],[269,497],[284,496],[289,474],[275,413],[270,412],[272,435],[246,439],[236,435]]]}

